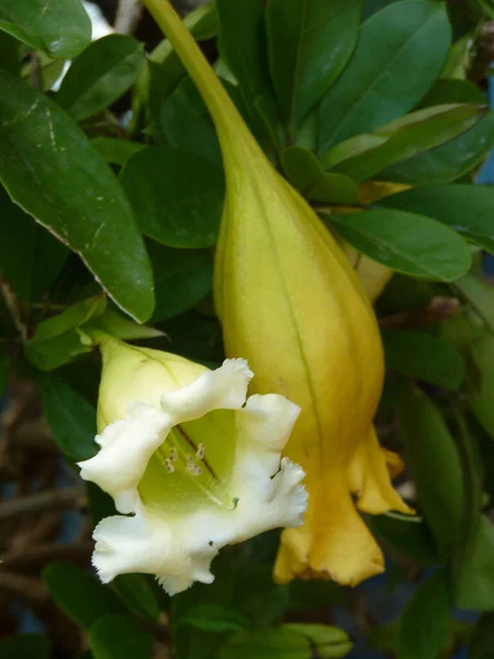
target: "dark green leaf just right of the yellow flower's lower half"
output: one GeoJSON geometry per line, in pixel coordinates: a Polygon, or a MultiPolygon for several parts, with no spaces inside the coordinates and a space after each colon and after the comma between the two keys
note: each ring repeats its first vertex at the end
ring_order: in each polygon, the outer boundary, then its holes
{"type": "Polygon", "coordinates": [[[444,389],[460,388],[463,359],[447,340],[414,330],[384,330],[382,339],[389,368],[444,389]]]}

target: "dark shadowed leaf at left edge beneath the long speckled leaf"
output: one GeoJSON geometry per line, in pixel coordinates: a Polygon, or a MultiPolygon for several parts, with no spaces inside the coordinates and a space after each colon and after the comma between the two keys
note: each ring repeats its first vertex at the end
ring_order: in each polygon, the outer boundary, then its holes
{"type": "Polygon", "coordinates": [[[2,186],[0,211],[2,277],[22,302],[34,301],[54,282],[69,252],[13,203],[2,186]]]}

